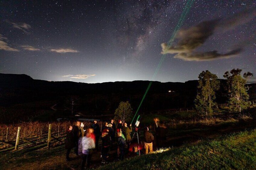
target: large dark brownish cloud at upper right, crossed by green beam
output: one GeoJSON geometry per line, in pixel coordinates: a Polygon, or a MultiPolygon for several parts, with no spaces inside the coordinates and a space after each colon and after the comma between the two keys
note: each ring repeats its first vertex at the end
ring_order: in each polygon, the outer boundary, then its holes
{"type": "Polygon", "coordinates": [[[215,32],[228,31],[251,21],[255,16],[255,10],[252,10],[252,12],[242,11],[232,17],[204,21],[188,29],[181,29],[177,35],[178,43],[171,46],[168,46],[167,43],[162,43],[161,54],[178,53],[174,58],[186,61],[207,61],[233,57],[242,51],[242,47],[235,48],[226,54],[219,54],[217,51],[195,52],[195,49],[202,46],[215,32]]]}

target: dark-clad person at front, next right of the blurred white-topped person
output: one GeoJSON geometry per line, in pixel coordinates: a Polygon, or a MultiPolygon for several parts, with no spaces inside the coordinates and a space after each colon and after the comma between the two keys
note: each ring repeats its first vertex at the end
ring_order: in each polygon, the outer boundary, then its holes
{"type": "Polygon", "coordinates": [[[110,144],[111,144],[109,130],[107,128],[105,128],[102,131],[101,139],[102,139],[102,163],[106,163],[107,152],[108,152],[110,144]]]}

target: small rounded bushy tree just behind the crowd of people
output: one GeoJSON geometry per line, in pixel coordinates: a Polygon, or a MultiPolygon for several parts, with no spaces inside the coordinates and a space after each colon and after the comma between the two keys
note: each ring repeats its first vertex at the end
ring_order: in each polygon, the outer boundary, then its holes
{"type": "Polygon", "coordinates": [[[133,113],[133,109],[128,101],[121,101],[118,108],[115,111],[115,118],[121,119],[122,122],[125,122],[125,119],[130,117],[133,113]]]}

